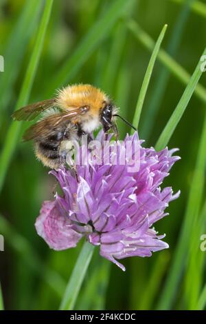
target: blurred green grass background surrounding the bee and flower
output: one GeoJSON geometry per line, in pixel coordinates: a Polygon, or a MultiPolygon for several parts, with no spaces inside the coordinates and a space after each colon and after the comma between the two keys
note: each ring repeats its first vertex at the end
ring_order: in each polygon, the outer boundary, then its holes
{"type": "MultiPolygon", "coordinates": [[[[32,143],[21,143],[28,123],[19,123],[19,129],[11,124],[16,102],[48,99],[67,83],[92,83],[105,90],[122,115],[133,121],[152,40],[157,41],[168,23],[138,128],[145,145],[155,145],[206,44],[203,0],[54,0],[30,96],[24,93],[20,100],[36,37],[43,36],[39,26],[44,8],[43,0],[0,1],[0,55],[4,57],[0,145],[3,152],[10,142],[12,152],[11,159],[5,159],[6,153],[0,156],[4,170],[0,169],[0,234],[5,239],[0,282],[8,310],[58,309],[82,246],[54,252],[36,234],[34,222],[41,203],[52,199],[54,179],[36,161],[32,143]]],[[[206,233],[205,81],[203,73],[169,143],[169,148],[180,149],[181,161],[164,185],[172,185],[174,192],[181,189],[181,196],[170,204],[170,216],[159,221],[156,229],[167,234],[170,249],[149,259],[124,260],[125,273],[101,259],[97,249],[76,309],[205,308],[206,252],[200,250],[200,236],[206,233]]],[[[119,131],[124,136],[130,130],[119,122],[119,131]]]]}

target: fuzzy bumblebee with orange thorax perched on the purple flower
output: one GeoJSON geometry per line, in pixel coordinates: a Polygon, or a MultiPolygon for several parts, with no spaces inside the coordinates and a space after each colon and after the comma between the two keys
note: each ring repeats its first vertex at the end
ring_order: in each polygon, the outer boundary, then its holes
{"type": "MultiPolygon", "coordinates": [[[[91,139],[89,134],[101,125],[105,134],[113,130],[118,137],[115,118],[120,116],[117,108],[102,90],[93,85],[68,85],[58,90],[53,99],[16,110],[12,118],[16,121],[32,121],[41,113],[43,118],[25,131],[23,141],[34,140],[37,158],[51,169],[65,163],[68,147],[65,143],[79,140],[83,134],[88,134],[91,139]]],[[[120,118],[128,123],[123,117],[120,118]]]]}

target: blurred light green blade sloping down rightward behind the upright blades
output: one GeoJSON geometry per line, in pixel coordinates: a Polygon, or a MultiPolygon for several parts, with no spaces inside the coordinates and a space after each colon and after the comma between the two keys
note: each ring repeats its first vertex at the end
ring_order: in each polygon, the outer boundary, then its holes
{"type": "MultiPolygon", "coordinates": [[[[133,20],[129,21],[128,28],[131,30],[131,32],[133,32],[135,38],[140,41],[140,43],[142,43],[142,45],[144,45],[148,50],[150,50],[150,52],[152,52],[155,46],[155,41],[153,41],[153,39],[133,20]]],[[[190,81],[190,74],[179,63],[172,59],[172,57],[170,57],[165,50],[159,50],[157,59],[159,59],[165,68],[170,70],[174,77],[179,79],[179,81],[181,81],[181,83],[184,85],[187,85],[187,83],[190,81]]],[[[198,84],[194,90],[194,94],[198,99],[201,99],[203,103],[206,103],[206,89],[203,87],[203,85],[198,84]]]]}

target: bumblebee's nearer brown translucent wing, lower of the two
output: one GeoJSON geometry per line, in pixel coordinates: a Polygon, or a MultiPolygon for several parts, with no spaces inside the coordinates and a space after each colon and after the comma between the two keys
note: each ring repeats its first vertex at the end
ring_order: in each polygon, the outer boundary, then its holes
{"type": "Polygon", "coordinates": [[[70,112],[62,112],[45,117],[25,131],[23,134],[23,141],[30,141],[31,139],[52,136],[53,132],[56,133],[56,130],[58,130],[62,124],[84,114],[87,112],[87,110],[88,108],[83,107],[76,110],[71,110],[70,112]]]}

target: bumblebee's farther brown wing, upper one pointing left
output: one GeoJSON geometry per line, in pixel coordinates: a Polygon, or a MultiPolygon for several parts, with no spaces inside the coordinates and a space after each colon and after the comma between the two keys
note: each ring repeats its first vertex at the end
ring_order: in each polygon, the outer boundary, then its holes
{"type": "Polygon", "coordinates": [[[56,105],[56,99],[47,99],[38,103],[32,103],[31,105],[25,105],[25,107],[16,110],[12,114],[12,118],[15,121],[32,121],[38,114],[54,107],[54,105],[56,105]]]}

